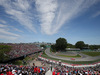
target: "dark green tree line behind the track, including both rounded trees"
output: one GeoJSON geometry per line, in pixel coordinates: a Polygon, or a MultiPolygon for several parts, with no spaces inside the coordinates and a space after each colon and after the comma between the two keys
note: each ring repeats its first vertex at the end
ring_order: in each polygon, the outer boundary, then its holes
{"type": "Polygon", "coordinates": [[[65,38],[58,38],[56,40],[56,44],[51,45],[51,49],[53,51],[62,51],[66,50],[66,48],[79,48],[79,49],[91,49],[91,50],[96,50],[100,48],[100,45],[88,45],[85,44],[84,41],[78,41],[75,43],[75,45],[67,43],[67,40],[65,38]]]}

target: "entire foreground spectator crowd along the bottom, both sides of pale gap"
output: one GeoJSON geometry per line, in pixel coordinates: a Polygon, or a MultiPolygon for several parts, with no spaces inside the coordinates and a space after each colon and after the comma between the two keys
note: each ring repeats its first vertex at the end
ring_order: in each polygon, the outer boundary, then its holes
{"type": "MultiPolygon", "coordinates": [[[[0,65],[0,75],[45,75],[50,70],[48,67],[0,65]]],[[[100,75],[100,65],[95,67],[68,67],[56,66],[52,75],[100,75]]]]}

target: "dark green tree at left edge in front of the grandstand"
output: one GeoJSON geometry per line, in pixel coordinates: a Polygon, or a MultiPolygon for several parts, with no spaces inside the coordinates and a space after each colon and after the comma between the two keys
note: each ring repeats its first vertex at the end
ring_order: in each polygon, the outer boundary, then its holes
{"type": "Polygon", "coordinates": [[[0,62],[4,62],[9,59],[7,53],[11,50],[11,46],[0,45],[0,62]]]}

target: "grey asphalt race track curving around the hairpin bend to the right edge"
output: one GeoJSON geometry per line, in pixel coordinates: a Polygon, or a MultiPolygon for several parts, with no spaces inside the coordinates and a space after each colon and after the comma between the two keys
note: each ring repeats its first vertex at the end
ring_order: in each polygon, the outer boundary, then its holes
{"type": "Polygon", "coordinates": [[[60,56],[56,56],[55,54],[52,54],[50,52],[50,48],[47,48],[45,50],[45,53],[52,58],[56,58],[56,59],[60,59],[60,60],[68,60],[68,61],[93,61],[93,60],[97,60],[100,59],[100,56],[96,56],[96,57],[91,57],[85,54],[82,54],[81,52],[78,52],[78,54],[80,54],[80,58],[74,58],[75,60],[72,60],[72,58],[69,57],[60,57],[60,56]]]}

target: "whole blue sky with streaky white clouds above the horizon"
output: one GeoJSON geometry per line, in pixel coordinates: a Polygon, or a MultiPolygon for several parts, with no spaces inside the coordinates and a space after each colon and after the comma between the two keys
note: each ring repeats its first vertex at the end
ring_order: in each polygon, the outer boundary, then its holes
{"type": "Polygon", "coordinates": [[[100,45],[100,0],[0,0],[0,42],[100,45]]]}

